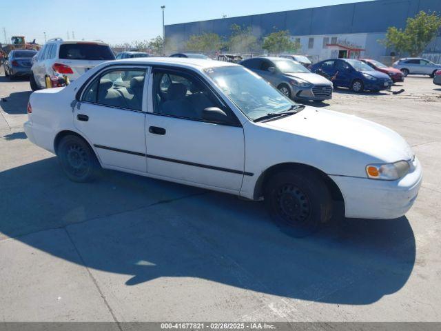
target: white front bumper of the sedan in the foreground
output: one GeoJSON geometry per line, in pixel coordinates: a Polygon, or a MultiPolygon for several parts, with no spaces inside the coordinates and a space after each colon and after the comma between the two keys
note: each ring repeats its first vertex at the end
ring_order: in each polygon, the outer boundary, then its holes
{"type": "Polygon", "coordinates": [[[380,181],[331,175],[345,200],[345,216],[362,219],[397,219],[411,208],[422,182],[420,161],[398,181],[380,181]]]}

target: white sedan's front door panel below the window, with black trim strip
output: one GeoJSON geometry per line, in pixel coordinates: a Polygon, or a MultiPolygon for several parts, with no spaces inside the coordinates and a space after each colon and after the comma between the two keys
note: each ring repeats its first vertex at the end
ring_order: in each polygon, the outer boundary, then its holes
{"type": "Polygon", "coordinates": [[[147,114],[145,126],[149,173],[240,190],[243,128],[155,114],[147,114]],[[165,134],[155,134],[151,127],[162,128],[165,134]]]}

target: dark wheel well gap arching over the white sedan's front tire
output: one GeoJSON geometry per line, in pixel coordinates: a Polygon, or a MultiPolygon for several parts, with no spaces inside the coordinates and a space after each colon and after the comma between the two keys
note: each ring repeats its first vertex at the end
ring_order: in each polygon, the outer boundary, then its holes
{"type": "Polygon", "coordinates": [[[282,170],[291,170],[291,171],[301,171],[302,169],[307,169],[315,172],[318,176],[325,182],[329,192],[331,193],[331,197],[335,201],[344,202],[342,192],[340,188],[338,188],[337,184],[327,175],[325,172],[318,170],[317,168],[312,167],[311,165],[306,165],[302,163],[280,163],[277,165],[273,165],[267,170],[265,170],[256,182],[256,186],[254,188],[254,199],[257,200],[260,197],[263,197],[265,192],[265,186],[267,185],[267,181],[271,178],[272,174],[276,172],[280,172],[282,170]]]}

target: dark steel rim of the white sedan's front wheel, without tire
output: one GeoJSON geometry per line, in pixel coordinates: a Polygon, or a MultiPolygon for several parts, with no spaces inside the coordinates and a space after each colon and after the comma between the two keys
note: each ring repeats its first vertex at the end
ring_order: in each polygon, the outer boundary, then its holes
{"type": "Polygon", "coordinates": [[[305,225],[311,214],[311,203],[307,194],[296,185],[285,184],[276,192],[278,214],[289,225],[305,225]]]}

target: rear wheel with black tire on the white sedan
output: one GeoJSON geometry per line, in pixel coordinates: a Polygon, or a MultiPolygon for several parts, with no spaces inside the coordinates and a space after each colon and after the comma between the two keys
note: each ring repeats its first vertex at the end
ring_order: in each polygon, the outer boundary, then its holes
{"type": "Polygon", "coordinates": [[[100,165],[89,144],[75,135],[61,139],[57,156],[63,172],[77,183],[94,181],[99,175],[100,165]]]}

